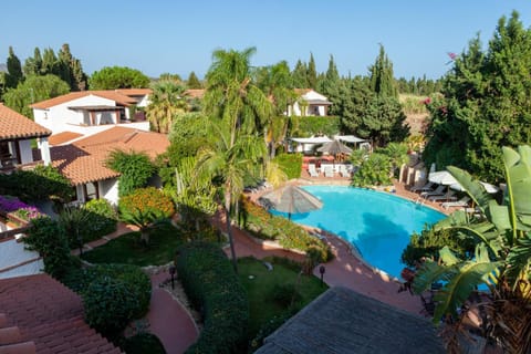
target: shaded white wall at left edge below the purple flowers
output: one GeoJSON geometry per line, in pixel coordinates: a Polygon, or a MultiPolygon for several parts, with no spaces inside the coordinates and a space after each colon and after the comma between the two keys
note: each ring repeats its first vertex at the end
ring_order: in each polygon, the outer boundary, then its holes
{"type": "Polygon", "coordinates": [[[18,242],[14,239],[0,242],[0,279],[38,274],[44,269],[42,260],[37,260],[39,253],[25,250],[24,243],[18,242]],[[34,261],[8,271],[2,271],[9,267],[31,260],[34,261]]]}

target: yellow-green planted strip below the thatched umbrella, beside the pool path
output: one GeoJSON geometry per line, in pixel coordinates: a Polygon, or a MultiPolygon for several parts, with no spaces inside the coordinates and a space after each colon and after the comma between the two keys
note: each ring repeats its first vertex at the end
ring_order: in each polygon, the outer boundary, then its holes
{"type": "Polygon", "coordinates": [[[277,240],[283,248],[296,249],[314,256],[316,261],[325,263],[332,260],[330,247],[320,239],[310,236],[306,230],[290,220],[272,216],[250,200],[242,200],[246,212],[243,227],[261,239],[277,240]]]}

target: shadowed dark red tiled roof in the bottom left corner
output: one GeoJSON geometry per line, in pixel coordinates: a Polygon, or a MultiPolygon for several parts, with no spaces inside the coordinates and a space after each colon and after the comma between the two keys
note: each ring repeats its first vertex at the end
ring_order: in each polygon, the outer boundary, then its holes
{"type": "Polygon", "coordinates": [[[37,353],[122,353],[83,321],[81,298],[48,274],[0,280],[0,313],[37,353]]]}

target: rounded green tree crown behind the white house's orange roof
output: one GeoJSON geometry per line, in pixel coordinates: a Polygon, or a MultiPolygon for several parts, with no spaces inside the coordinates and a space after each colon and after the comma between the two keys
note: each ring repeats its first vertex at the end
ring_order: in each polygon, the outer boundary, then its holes
{"type": "Polygon", "coordinates": [[[88,80],[91,90],[140,88],[149,85],[149,77],[127,66],[105,66],[88,80]]]}

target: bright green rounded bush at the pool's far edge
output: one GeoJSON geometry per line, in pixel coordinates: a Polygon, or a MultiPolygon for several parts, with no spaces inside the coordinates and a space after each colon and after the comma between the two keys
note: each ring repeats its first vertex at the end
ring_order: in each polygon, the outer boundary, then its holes
{"type": "Polygon", "coordinates": [[[373,153],[352,176],[354,187],[388,186],[392,184],[392,162],[387,155],[373,153]]]}

